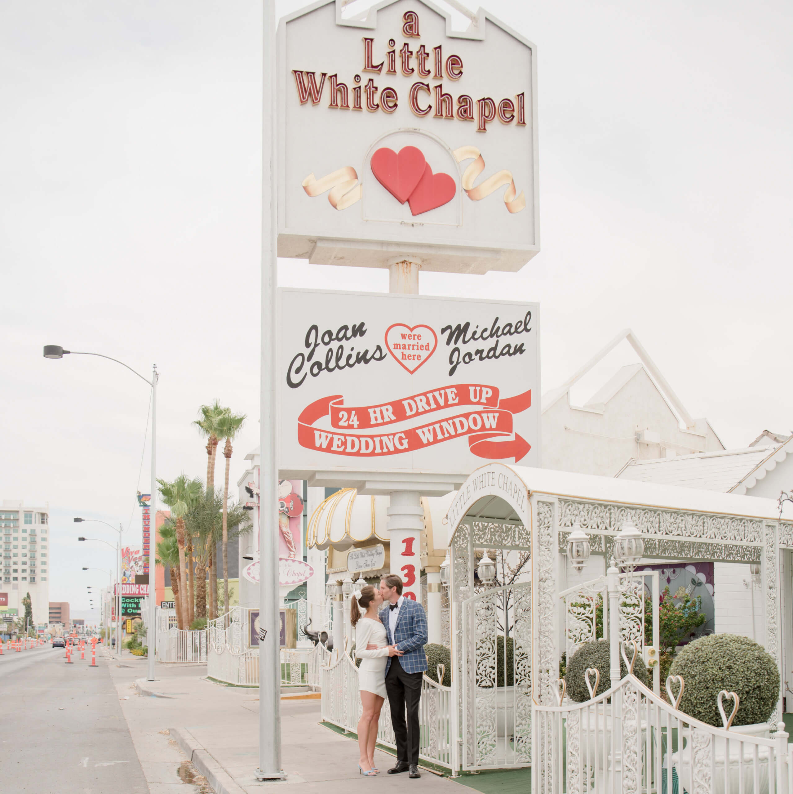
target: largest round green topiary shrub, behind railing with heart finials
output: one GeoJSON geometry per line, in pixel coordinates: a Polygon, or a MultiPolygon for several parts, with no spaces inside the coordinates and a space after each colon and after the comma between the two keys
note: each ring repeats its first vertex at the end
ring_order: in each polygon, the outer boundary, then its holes
{"type": "MultiPolygon", "coordinates": [[[[737,634],[709,634],[689,642],[675,657],[669,674],[683,676],[686,684],[680,711],[718,727],[722,727],[717,705],[722,689],[741,699],[733,725],[767,723],[780,695],[774,657],[737,634]]],[[[731,703],[727,701],[725,711],[731,703]]]]}

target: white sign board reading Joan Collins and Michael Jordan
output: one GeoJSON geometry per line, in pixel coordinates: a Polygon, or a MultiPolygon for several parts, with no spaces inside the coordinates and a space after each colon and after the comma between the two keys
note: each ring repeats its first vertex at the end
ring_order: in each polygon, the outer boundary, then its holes
{"type": "Polygon", "coordinates": [[[539,464],[539,306],[279,290],[279,470],[539,464]]]}

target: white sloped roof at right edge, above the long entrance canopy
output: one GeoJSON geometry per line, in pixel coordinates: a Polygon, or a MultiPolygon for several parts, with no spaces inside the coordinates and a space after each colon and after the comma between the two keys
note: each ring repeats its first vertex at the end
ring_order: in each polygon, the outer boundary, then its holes
{"type": "Polygon", "coordinates": [[[793,449],[787,447],[788,441],[782,445],[724,449],[652,461],[631,460],[617,477],[620,480],[745,494],[757,480],[762,480],[787,457],[789,449],[793,449]]]}

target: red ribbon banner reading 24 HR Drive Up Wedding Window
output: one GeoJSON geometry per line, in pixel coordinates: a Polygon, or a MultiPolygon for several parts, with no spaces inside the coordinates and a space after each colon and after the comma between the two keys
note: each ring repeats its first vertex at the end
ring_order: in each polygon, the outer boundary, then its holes
{"type": "Polygon", "coordinates": [[[488,460],[514,458],[517,463],[531,449],[528,441],[513,434],[512,417],[531,406],[531,390],[521,395],[499,399],[499,389],[484,384],[460,384],[425,391],[391,403],[375,406],[345,407],[343,395],[323,397],[311,403],[298,417],[298,443],[332,455],[378,457],[414,452],[460,436],[468,437],[468,448],[488,460]],[[472,407],[436,422],[400,430],[395,433],[349,433],[348,427],[376,429],[414,416],[423,418],[438,410],[472,407]],[[330,416],[334,429],[320,430],[314,422],[330,416]],[[501,437],[500,441],[491,439],[501,437]]]}

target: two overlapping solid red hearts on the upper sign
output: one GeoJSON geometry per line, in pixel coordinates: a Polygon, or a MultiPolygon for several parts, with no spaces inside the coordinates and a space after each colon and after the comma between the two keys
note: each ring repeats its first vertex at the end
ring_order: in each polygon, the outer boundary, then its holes
{"type": "Polygon", "coordinates": [[[371,172],[400,204],[408,202],[414,215],[448,204],[457,192],[454,179],[448,174],[433,174],[422,150],[415,146],[404,146],[398,154],[387,147],[379,148],[371,156],[371,172]]]}

